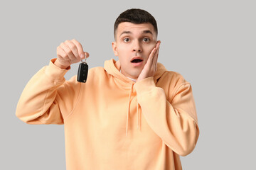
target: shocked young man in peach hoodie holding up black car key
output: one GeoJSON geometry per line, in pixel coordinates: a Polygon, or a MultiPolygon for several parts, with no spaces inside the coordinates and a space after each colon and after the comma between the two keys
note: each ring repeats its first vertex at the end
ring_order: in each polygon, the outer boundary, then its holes
{"type": "Polygon", "coordinates": [[[191,84],[157,63],[156,21],[141,9],[121,13],[112,48],[118,61],[90,69],[85,84],[65,81],[88,57],[77,40],[23,90],[16,115],[29,124],[64,124],[67,169],[182,169],[199,130],[191,84]]]}

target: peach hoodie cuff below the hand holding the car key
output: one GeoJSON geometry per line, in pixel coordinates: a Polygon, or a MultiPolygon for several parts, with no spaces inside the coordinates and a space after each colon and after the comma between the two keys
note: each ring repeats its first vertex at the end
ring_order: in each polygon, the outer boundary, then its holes
{"type": "Polygon", "coordinates": [[[50,60],[49,65],[46,67],[46,75],[54,80],[60,80],[63,81],[65,74],[70,70],[70,67],[67,69],[60,69],[60,67],[57,67],[54,62],[55,58],[50,60]]]}

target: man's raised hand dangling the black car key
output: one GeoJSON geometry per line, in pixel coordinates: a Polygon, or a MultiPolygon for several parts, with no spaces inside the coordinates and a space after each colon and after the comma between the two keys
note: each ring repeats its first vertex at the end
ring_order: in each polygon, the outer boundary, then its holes
{"type": "Polygon", "coordinates": [[[54,64],[61,69],[67,69],[71,64],[89,57],[88,52],[82,50],[82,45],[77,40],[65,40],[57,47],[57,60],[54,64]]]}

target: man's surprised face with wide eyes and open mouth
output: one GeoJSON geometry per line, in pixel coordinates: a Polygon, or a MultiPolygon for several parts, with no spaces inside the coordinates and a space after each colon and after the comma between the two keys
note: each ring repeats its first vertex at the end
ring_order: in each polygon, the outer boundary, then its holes
{"type": "Polygon", "coordinates": [[[151,23],[119,23],[115,39],[112,48],[119,58],[122,74],[137,79],[151,50],[156,47],[154,26],[151,23]]]}

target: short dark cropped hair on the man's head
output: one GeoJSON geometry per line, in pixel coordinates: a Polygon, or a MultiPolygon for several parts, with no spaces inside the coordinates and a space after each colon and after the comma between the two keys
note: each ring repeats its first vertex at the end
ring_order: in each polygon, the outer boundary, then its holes
{"type": "Polygon", "coordinates": [[[149,12],[143,9],[131,8],[121,13],[117,17],[116,21],[114,22],[114,38],[115,38],[115,33],[119,23],[124,23],[124,22],[136,23],[136,24],[151,23],[154,26],[154,30],[156,31],[156,36],[157,36],[157,33],[158,33],[157,24],[154,16],[152,16],[149,12]]]}

